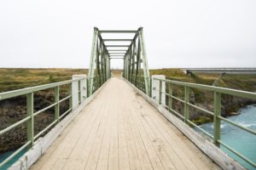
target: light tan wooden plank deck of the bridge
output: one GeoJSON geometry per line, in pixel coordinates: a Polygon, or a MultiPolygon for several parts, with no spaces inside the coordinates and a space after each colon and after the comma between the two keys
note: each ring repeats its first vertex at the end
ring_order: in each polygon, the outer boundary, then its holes
{"type": "Polygon", "coordinates": [[[112,78],[31,169],[219,169],[129,84],[112,78]]]}

